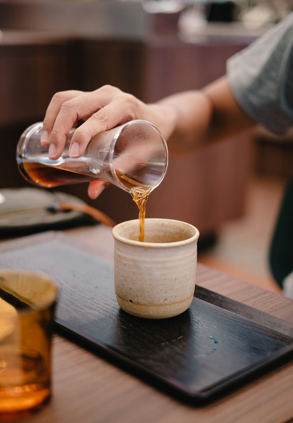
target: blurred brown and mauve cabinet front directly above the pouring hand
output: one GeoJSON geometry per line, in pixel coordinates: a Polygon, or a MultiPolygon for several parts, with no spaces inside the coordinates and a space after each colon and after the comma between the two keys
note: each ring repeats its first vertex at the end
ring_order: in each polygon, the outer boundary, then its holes
{"type": "Polygon", "coordinates": [[[225,74],[226,60],[245,44],[186,44],[175,36],[139,41],[84,41],[82,87],[104,84],[154,102],[202,88],[225,74]]]}

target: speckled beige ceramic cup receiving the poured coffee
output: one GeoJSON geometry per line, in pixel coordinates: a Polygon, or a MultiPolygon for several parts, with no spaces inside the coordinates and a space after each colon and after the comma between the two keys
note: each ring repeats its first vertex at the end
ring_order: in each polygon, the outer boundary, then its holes
{"type": "Polygon", "coordinates": [[[189,308],[195,287],[199,231],[189,223],[145,219],[115,226],[114,281],[120,307],[134,316],[164,319],[189,308]]]}

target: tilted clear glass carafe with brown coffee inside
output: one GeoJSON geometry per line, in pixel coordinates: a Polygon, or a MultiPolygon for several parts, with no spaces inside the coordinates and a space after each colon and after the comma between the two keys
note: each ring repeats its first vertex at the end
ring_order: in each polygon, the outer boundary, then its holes
{"type": "Polygon", "coordinates": [[[134,120],[94,136],[79,158],[69,156],[71,129],[63,154],[48,157],[41,144],[42,122],[23,132],[16,151],[19,170],[27,181],[42,187],[101,179],[128,191],[151,192],[167,170],[168,150],[164,137],[148,121],[134,120]]]}

